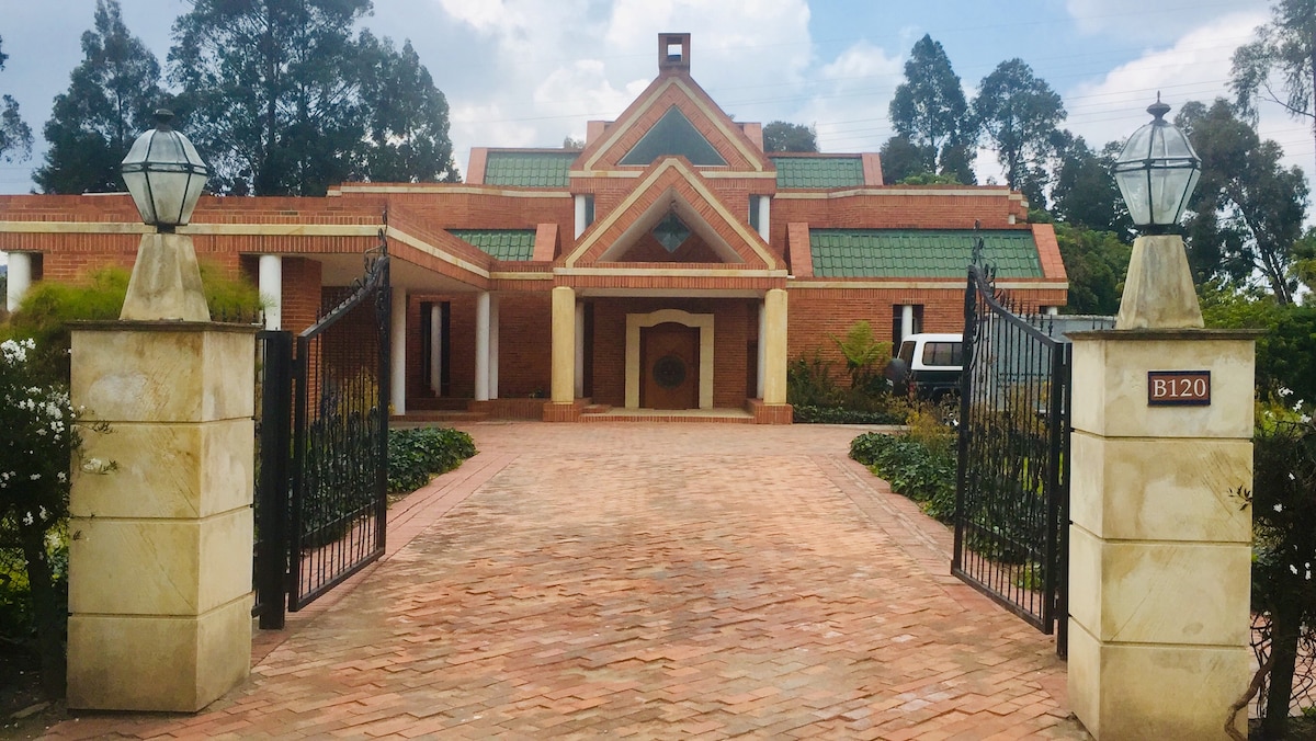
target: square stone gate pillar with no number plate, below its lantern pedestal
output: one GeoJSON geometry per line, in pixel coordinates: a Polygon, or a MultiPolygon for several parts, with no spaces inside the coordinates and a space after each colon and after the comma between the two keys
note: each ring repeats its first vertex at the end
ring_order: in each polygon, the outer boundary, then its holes
{"type": "Polygon", "coordinates": [[[255,341],[249,328],[72,333],[86,438],[68,523],[68,707],[193,712],[251,661],[255,341]]]}

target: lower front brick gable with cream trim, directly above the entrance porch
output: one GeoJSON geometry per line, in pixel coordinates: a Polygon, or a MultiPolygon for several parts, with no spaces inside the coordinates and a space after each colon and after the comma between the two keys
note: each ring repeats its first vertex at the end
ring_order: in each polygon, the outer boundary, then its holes
{"type": "MultiPolygon", "coordinates": [[[[737,218],[708,187],[694,166],[666,158],[641,175],[636,188],[607,217],[582,234],[566,267],[611,262],[669,213],[699,233],[725,263],[749,270],[778,270],[782,261],[758,232],[737,218]]],[[[671,263],[671,267],[699,263],[671,263]]]]}

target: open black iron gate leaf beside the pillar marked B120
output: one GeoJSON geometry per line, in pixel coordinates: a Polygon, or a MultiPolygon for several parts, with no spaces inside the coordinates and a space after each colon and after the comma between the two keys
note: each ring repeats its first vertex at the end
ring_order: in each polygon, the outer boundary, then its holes
{"type": "Polygon", "coordinates": [[[1070,345],[969,268],[951,573],[1067,642],[1070,345]]]}

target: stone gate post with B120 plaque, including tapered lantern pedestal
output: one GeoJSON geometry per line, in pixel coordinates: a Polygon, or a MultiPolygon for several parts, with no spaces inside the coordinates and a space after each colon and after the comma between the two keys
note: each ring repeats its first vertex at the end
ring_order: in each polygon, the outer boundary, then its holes
{"type": "Polygon", "coordinates": [[[1116,329],[1070,334],[1069,691],[1099,740],[1227,738],[1254,666],[1255,334],[1202,329],[1180,276],[1138,238],[1116,329]]]}

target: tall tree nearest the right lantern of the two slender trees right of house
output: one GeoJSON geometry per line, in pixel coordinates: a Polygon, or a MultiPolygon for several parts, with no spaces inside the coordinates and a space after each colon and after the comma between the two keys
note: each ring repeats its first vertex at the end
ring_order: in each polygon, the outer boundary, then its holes
{"type": "Polygon", "coordinates": [[[1037,208],[1045,208],[1046,163],[1062,143],[1061,96],[1023,59],[1007,59],[983,78],[974,118],[996,147],[1005,182],[1037,208]]]}

